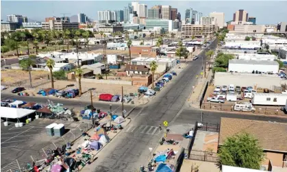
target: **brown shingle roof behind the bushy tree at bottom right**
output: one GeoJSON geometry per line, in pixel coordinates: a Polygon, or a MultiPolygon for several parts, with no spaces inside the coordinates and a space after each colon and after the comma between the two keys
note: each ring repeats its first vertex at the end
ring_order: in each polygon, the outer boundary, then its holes
{"type": "Polygon", "coordinates": [[[287,123],[221,118],[219,145],[225,138],[247,132],[258,139],[262,149],[287,152],[287,123]]]}

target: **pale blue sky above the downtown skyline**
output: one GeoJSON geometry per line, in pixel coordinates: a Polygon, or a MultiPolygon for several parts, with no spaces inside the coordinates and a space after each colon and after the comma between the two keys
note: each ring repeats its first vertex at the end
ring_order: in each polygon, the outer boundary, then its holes
{"type": "MultiPolygon", "coordinates": [[[[22,14],[28,19],[44,21],[47,16],[72,16],[79,12],[97,20],[99,10],[122,10],[131,1],[1,1],[1,19],[6,20],[8,14],[22,14]]],[[[203,12],[224,12],[225,21],[232,20],[236,10],[243,9],[249,16],[256,17],[258,24],[275,24],[287,21],[287,1],[140,1],[153,5],[171,5],[177,8],[184,19],[184,10],[193,8],[203,12]]]]}

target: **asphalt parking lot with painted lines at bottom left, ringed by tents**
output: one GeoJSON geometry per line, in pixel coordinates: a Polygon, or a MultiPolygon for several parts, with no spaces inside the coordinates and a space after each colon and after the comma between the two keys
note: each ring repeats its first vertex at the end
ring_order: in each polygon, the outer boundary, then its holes
{"type": "Polygon", "coordinates": [[[23,169],[27,163],[42,163],[49,156],[47,150],[72,142],[88,128],[90,123],[51,119],[36,119],[23,127],[1,123],[1,171],[23,169]],[[64,123],[64,136],[47,136],[45,127],[51,123],[64,123]]]}

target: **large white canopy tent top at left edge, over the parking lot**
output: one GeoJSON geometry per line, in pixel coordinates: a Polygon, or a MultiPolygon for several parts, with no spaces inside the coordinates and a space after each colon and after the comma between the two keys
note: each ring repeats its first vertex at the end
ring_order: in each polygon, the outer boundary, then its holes
{"type": "Polygon", "coordinates": [[[21,119],[28,114],[34,113],[36,110],[0,107],[0,117],[8,119],[21,119]]]}

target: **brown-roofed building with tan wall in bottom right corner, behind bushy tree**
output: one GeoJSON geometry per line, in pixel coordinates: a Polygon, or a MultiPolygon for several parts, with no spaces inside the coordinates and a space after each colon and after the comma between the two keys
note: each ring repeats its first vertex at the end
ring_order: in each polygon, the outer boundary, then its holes
{"type": "Polygon", "coordinates": [[[246,132],[258,139],[266,157],[262,165],[287,169],[287,123],[221,118],[219,149],[227,137],[246,132]]]}

